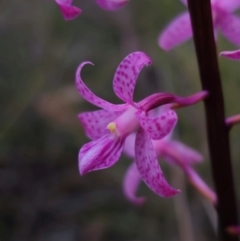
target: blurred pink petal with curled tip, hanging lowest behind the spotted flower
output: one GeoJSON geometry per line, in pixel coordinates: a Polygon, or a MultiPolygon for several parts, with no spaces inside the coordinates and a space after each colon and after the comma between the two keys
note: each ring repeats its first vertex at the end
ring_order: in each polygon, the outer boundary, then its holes
{"type": "Polygon", "coordinates": [[[139,186],[141,180],[142,179],[138,172],[137,166],[136,166],[135,162],[133,162],[129,166],[129,168],[125,174],[125,177],[123,179],[123,191],[124,191],[126,198],[136,205],[141,205],[145,202],[144,197],[136,196],[136,192],[137,192],[137,189],[138,189],[138,186],[139,186]]]}

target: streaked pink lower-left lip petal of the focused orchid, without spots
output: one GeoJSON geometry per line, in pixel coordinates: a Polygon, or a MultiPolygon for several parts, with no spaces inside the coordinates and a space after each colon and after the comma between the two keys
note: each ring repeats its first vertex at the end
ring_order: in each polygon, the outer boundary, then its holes
{"type": "Polygon", "coordinates": [[[121,156],[123,142],[123,138],[116,138],[110,134],[85,144],[78,156],[80,174],[114,165],[121,156]]]}

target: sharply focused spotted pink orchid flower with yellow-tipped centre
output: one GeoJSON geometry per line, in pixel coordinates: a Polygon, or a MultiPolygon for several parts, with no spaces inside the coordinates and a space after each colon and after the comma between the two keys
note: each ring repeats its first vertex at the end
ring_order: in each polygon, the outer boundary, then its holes
{"type": "MultiPolygon", "coordinates": [[[[86,134],[93,140],[80,149],[80,174],[114,165],[122,153],[126,137],[137,131],[135,150],[141,159],[138,168],[143,180],[160,196],[177,194],[179,191],[165,180],[151,142],[151,139],[161,139],[170,133],[177,122],[177,115],[173,110],[156,117],[148,115],[149,104],[155,106],[154,100],[159,95],[147,97],[139,103],[133,101],[137,77],[142,68],[151,63],[151,59],[143,52],[134,52],[118,66],[113,78],[113,89],[125,102],[121,105],[111,104],[95,96],[83,83],[80,72],[89,63],[84,62],[77,69],[77,89],[83,98],[102,109],[79,115],[86,134]]],[[[166,94],[161,96],[169,98],[166,94]]]]}

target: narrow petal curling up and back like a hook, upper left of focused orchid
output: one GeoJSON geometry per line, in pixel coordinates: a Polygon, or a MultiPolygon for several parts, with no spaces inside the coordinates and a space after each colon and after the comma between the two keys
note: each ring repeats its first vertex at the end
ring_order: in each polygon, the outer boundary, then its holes
{"type": "Polygon", "coordinates": [[[84,82],[82,81],[82,78],[80,76],[80,73],[82,71],[83,66],[86,64],[93,65],[93,63],[91,63],[91,62],[83,62],[78,66],[77,71],[76,71],[76,85],[77,85],[78,92],[81,94],[81,96],[88,102],[92,103],[93,105],[96,105],[105,110],[109,110],[109,111],[125,110],[126,104],[122,104],[122,105],[111,104],[111,103],[99,98],[95,94],[93,94],[93,92],[84,84],[84,82]]]}

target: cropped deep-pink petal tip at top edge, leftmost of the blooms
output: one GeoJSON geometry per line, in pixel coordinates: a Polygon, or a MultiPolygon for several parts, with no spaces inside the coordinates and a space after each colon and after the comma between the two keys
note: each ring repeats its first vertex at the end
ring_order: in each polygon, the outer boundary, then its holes
{"type": "Polygon", "coordinates": [[[73,20],[82,12],[80,8],[72,6],[72,1],[73,0],[55,0],[65,20],[73,20]]]}

